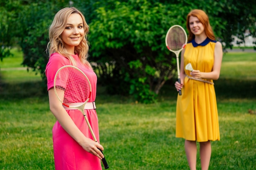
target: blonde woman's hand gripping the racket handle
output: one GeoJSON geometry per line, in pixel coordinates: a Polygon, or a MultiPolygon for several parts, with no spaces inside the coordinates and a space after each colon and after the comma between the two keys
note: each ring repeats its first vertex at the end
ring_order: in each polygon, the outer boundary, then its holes
{"type": "Polygon", "coordinates": [[[93,141],[90,138],[87,138],[85,141],[79,142],[79,144],[83,147],[84,150],[91,153],[92,155],[97,156],[99,159],[104,158],[103,153],[101,153],[101,151],[99,150],[104,150],[104,148],[98,142],[93,141]]]}

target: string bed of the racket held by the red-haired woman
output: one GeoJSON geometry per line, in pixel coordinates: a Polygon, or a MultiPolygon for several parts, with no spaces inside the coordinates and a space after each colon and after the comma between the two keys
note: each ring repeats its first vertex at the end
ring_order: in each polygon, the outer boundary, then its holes
{"type": "Polygon", "coordinates": [[[186,35],[180,27],[173,27],[167,36],[167,45],[169,49],[173,51],[179,51],[180,49],[183,49],[183,46],[186,43],[186,35]]]}

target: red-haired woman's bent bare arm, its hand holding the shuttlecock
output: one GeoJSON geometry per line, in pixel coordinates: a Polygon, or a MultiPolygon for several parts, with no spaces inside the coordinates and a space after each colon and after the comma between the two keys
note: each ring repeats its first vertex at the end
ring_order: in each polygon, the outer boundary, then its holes
{"type": "Polygon", "coordinates": [[[214,49],[214,64],[213,70],[211,72],[200,72],[199,70],[194,70],[191,72],[191,76],[195,78],[203,78],[203,79],[213,79],[217,80],[220,77],[220,68],[222,62],[222,45],[220,42],[216,42],[214,49]]]}

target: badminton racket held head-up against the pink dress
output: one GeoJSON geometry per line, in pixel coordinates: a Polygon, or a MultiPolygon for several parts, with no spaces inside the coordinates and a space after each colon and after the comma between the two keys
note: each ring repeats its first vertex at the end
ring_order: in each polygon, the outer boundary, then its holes
{"type": "MultiPolygon", "coordinates": [[[[75,66],[63,66],[59,68],[54,77],[54,92],[64,106],[78,109],[83,113],[92,137],[97,142],[84,111],[85,104],[89,101],[92,93],[90,81],[85,73],[75,66]]],[[[99,150],[103,154],[102,150],[99,150]]],[[[104,168],[109,168],[105,157],[101,160],[104,168]]]]}

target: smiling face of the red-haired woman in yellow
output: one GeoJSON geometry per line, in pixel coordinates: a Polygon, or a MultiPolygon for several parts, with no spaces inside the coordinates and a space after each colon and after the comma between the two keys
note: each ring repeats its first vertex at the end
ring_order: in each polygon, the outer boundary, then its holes
{"type": "Polygon", "coordinates": [[[202,22],[198,20],[197,17],[190,16],[189,17],[189,28],[191,32],[196,36],[196,35],[202,35],[205,34],[204,32],[204,26],[202,22]]]}

